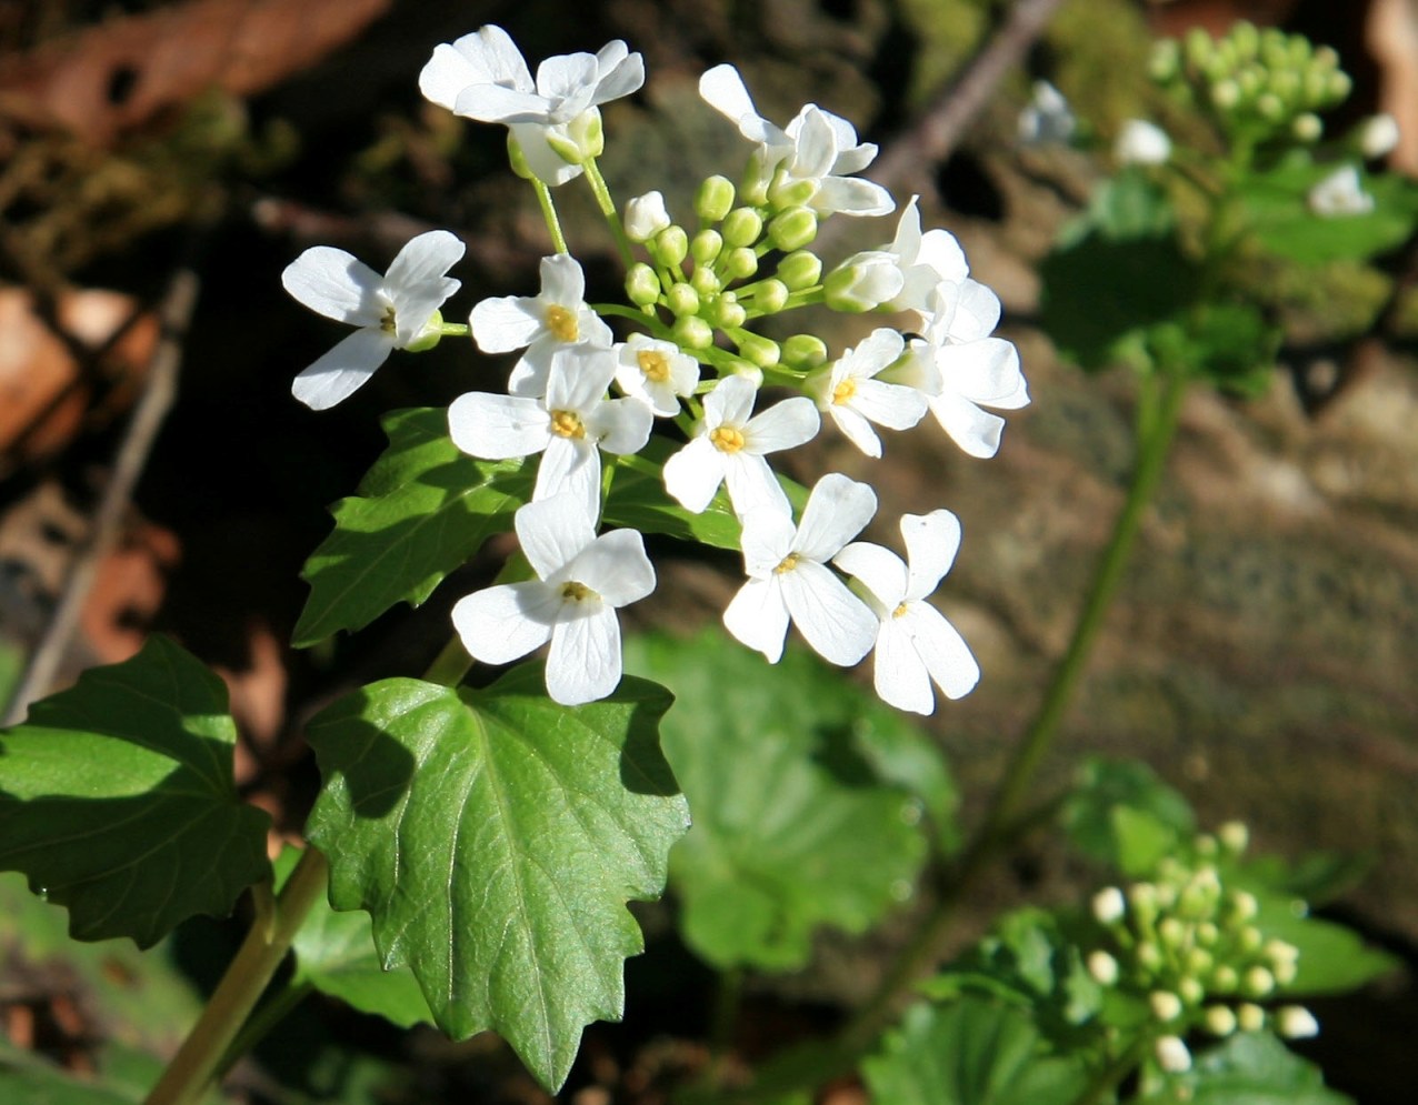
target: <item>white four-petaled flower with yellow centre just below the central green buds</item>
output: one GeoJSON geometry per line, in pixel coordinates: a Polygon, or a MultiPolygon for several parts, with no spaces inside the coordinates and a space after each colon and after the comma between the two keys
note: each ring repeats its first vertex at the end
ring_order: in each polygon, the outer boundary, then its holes
{"type": "Polygon", "coordinates": [[[700,513],[726,483],[740,516],[757,507],[788,513],[788,499],[764,453],[811,441],[821,419],[805,395],[783,400],[750,418],[754,395],[757,388],[742,375],[725,377],[705,395],[703,424],[665,462],[665,490],[685,510],[700,513]]]}

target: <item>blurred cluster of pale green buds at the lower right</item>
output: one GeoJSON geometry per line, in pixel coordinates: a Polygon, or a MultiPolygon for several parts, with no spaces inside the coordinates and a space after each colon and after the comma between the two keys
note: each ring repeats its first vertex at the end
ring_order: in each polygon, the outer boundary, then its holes
{"type": "Polygon", "coordinates": [[[1163,1070],[1191,1065],[1184,1041],[1194,1030],[1227,1037],[1271,1028],[1286,1038],[1319,1031],[1302,1006],[1259,1004],[1295,980],[1299,951],[1268,938],[1256,924],[1255,895],[1222,881],[1218,860],[1239,857],[1246,842],[1244,824],[1227,823],[1198,836],[1190,857],[1163,860],[1153,881],[1093,897],[1112,951],[1090,952],[1088,970],[1099,985],[1146,1002],[1163,1070]]]}

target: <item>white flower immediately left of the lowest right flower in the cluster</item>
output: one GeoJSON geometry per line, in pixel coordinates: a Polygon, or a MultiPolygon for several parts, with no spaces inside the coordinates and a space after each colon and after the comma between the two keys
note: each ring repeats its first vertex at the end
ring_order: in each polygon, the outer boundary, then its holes
{"type": "Polygon", "coordinates": [[[749,581],[723,612],[723,623],[769,663],[783,656],[788,620],[834,664],[849,667],[872,647],[876,618],[827,567],[876,513],[876,493],[832,472],[803,507],[803,520],[773,507],[743,518],[743,567],[749,581]]]}

